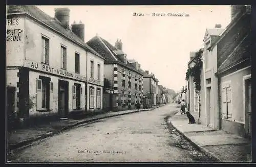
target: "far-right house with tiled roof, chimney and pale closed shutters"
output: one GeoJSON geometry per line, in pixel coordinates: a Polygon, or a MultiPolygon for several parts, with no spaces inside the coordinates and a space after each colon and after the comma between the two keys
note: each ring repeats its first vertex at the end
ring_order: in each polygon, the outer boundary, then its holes
{"type": "Polygon", "coordinates": [[[231,6],[231,22],[217,47],[220,127],[251,138],[251,14],[250,6],[231,6]]]}

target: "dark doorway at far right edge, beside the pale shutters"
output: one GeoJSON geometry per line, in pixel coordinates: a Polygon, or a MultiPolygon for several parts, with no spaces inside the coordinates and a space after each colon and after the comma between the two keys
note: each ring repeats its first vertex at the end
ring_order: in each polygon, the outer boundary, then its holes
{"type": "Polygon", "coordinates": [[[245,80],[245,131],[246,136],[251,138],[252,119],[251,119],[251,79],[245,80]]]}

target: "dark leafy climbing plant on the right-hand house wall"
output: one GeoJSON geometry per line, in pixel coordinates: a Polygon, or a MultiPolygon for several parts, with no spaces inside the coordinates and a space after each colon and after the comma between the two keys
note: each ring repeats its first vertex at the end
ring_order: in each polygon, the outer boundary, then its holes
{"type": "Polygon", "coordinates": [[[193,61],[194,65],[192,67],[188,66],[188,69],[186,72],[186,80],[188,81],[188,84],[189,84],[189,76],[194,77],[193,82],[195,83],[195,90],[198,95],[198,105],[199,105],[198,122],[199,122],[200,112],[201,112],[200,91],[201,91],[201,71],[203,66],[202,54],[203,54],[202,49],[196,52],[196,56],[193,61]]]}

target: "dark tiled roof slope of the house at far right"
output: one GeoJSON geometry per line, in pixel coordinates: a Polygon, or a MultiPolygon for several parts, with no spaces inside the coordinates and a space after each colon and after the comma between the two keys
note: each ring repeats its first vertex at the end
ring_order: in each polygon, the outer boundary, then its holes
{"type": "Polygon", "coordinates": [[[242,62],[246,59],[250,59],[251,57],[251,48],[250,48],[250,37],[247,35],[245,39],[242,41],[240,45],[238,45],[237,49],[235,49],[227,59],[220,65],[218,71],[221,71],[236,65],[239,62],[242,62]]]}

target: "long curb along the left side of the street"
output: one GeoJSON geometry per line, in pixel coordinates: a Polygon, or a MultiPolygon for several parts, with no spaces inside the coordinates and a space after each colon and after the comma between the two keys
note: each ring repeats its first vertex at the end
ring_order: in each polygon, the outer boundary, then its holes
{"type": "MultiPolygon", "coordinates": [[[[164,105],[162,105],[162,106],[164,106],[164,105]]],[[[47,137],[51,137],[51,136],[53,136],[53,135],[55,135],[55,134],[58,134],[58,133],[60,133],[60,132],[62,132],[62,131],[65,131],[65,130],[67,130],[67,129],[70,129],[70,128],[75,127],[75,126],[80,125],[80,124],[90,123],[90,122],[102,120],[102,119],[104,119],[104,118],[109,118],[109,117],[114,117],[114,116],[119,116],[119,115],[126,115],[126,114],[130,114],[130,113],[141,112],[141,111],[151,111],[151,110],[154,110],[154,109],[159,108],[159,107],[162,107],[162,106],[157,106],[157,107],[152,108],[152,109],[136,110],[136,111],[126,112],[126,113],[120,113],[120,114],[115,114],[115,115],[109,115],[109,116],[103,116],[103,117],[98,117],[98,118],[92,118],[91,120],[80,121],[80,122],[71,124],[71,125],[69,125],[69,126],[66,126],[66,127],[62,128],[61,130],[48,132],[48,133],[46,133],[46,134],[39,135],[39,136],[36,136],[36,137],[33,137],[33,138],[26,139],[26,140],[21,141],[21,142],[18,142],[17,144],[9,145],[9,146],[8,146],[8,150],[9,150],[9,151],[12,151],[12,150],[15,150],[15,149],[18,149],[18,148],[27,146],[27,145],[31,144],[32,142],[34,142],[34,141],[38,141],[38,140],[40,140],[40,139],[44,139],[44,138],[47,138],[47,137]]]]}

